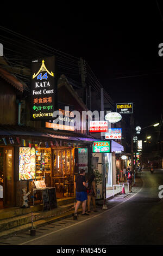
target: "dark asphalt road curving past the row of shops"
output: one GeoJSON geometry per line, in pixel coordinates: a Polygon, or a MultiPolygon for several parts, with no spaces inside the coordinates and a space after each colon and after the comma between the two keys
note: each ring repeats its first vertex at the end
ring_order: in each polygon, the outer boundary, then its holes
{"type": "MultiPolygon", "coordinates": [[[[79,216],[77,223],[66,218],[36,230],[32,238],[26,232],[2,242],[9,245],[161,245],[162,200],[158,197],[163,170],[154,174],[144,170],[137,175],[133,193],[122,199],[111,199],[108,210],[79,216]],[[37,233],[38,231],[38,233],[37,233]]],[[[58,248],[60,248],[58,246],[58,248]]]]}

